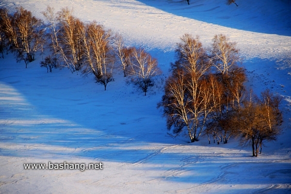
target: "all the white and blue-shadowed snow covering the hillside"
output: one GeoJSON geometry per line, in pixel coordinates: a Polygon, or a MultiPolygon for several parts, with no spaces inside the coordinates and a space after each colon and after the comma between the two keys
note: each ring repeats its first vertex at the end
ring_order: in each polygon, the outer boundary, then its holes
{"type": "Polygon", "coordinates": [[[226,34],[244,57],[248,85],[284,97],[283,132],[259,157],[235,139],[227,144],[172,138],[156,108],[162,85],[145,97],[115,75],[107,91],[92,76],[47,73],[43,56],[25,69],[0,59],[0,193],[290,193],[291,3],[289,0],[2,0],[42,18],[47,5],[74,9],[146,48],[164,77],[184,33],[205,47],[226,34]],[[25,170],[24,163],[103,163],[92,170],[25,170]]]}

